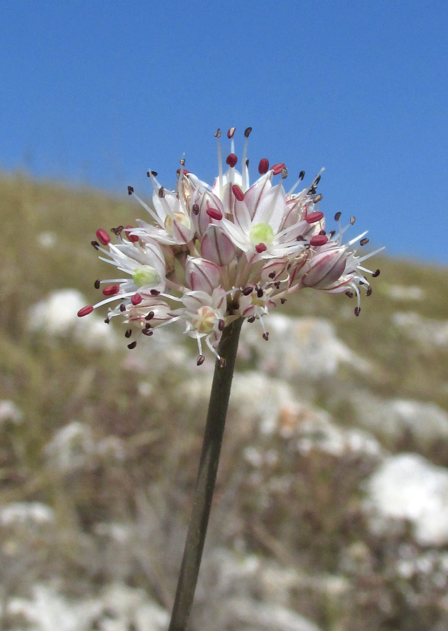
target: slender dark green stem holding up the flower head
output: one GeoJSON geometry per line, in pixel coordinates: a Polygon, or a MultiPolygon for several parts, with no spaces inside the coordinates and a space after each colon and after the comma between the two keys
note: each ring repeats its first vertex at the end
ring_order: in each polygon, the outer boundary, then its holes
{"type": "Polygon", "coordinates": [[[212,507],[213,491],[215,490],[219,452],[221,451],[222,435],[224,434],[227,408],[229,407],[233,367],[235,366],[242,324],[243,318],[233,320],[224,329],[221,341],[219,341],[218,353],[226,360],[226,365],[221,368],[218,361],[215,364],[193,508],[168,631],[186,630],[193,604],[205,534],[207,534],[208,517],[212,507]]]}

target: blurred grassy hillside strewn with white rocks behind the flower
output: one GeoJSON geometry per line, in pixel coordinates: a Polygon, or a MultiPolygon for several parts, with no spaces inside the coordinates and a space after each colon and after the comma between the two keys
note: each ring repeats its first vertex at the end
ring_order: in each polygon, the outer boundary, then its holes
{"type": "MultiPolygon", "coordinates": [[[[0,626],[163,631],[212,360],[76,318],[127,200],[0,198],[0,626]]],[[[359,318],[309,290],[243,326],[192,631],[448,628],[448,274],[378,265],[359,318]]]]}

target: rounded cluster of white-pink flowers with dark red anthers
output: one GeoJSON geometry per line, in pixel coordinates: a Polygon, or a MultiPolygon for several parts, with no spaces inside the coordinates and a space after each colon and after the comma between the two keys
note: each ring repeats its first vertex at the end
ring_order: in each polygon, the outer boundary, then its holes
{"type": "Polygon", "coordinates": [[[113,275],[117,278],[97,280],[104,299],[83,307],[79,316],[109,305],[105,321],[121,318],[128,348],[135,348],[142,334],[150,337],[181,320],[185,333],[197,341],[198,365],[205,360],[204,345],[224,365],[217,348],[226,325],[236,318],[257,320],[260,336],[267,340],[269,311],[305,287],[355,296],[359,315],[360,290],[367,296],[372,292],[366,275],[379,275],[378,269],[371,271],[362,263],[379,250],[357,255],[355,244],[366,245],[366,233],[344,244],[344,232],[355,219],[343,228],[340,212],[334,216],[338,229],[327,233],[320,210],[323,196],[317,192],[322,171],[296,192],[304,180],[301,171],[287,192],[285,164],[269,165],[262,158],[259,177],[251,185],[246,158],[251,130],[245,130],[240,160],[235,128],[227,132],[231,147],[225,171],[217,130],[218,175],[212,185],[186,170],[182,159],[174,191],[148,171],[154,189],[151,204],[128,186],[148,221],[111,229],[113,239],[106,230],[97,230],[93,247],[118,270],[113,275]]]}

